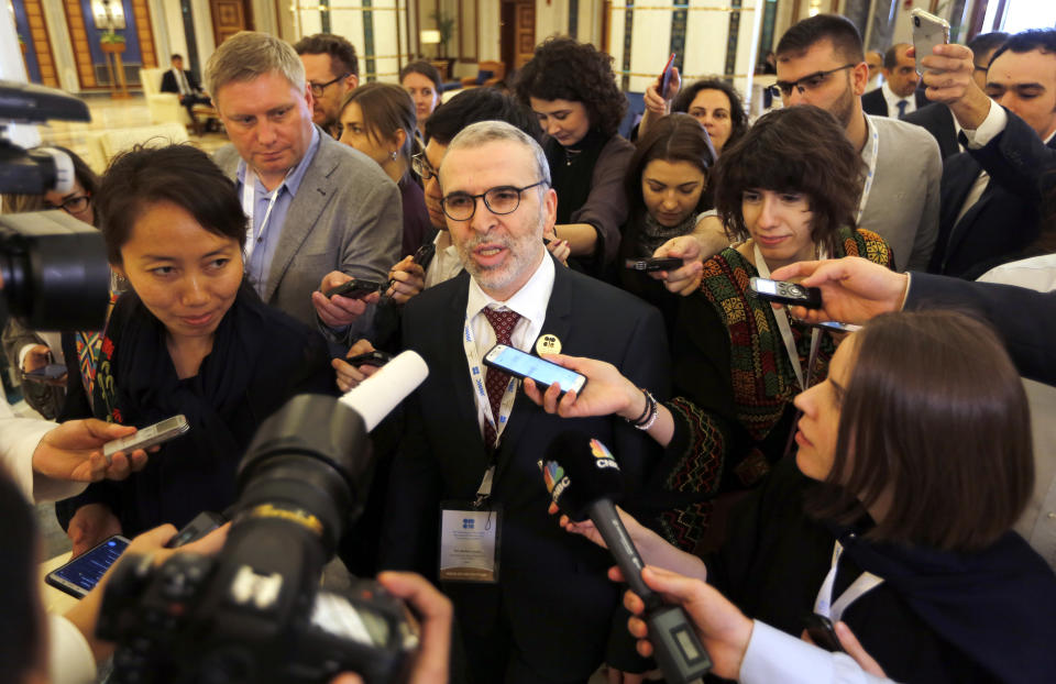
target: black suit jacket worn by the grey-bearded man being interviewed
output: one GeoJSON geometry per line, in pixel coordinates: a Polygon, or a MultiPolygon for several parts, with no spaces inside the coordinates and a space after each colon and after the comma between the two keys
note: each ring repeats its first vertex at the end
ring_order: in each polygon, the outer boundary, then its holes
{"type": "MultiPolygon", "coordinates": [[[[657,397],[670,382],[660,313],[639,299],[556,264],[541,333],[561,340],[562,353],[615,364],[657,397]]],[[[404,347],[426,360],[430,375],[407,400],[407,427],[393,465],[381,564],[436,576],[442,500],[470,500],[490,460],[462,346],[469,274],[418,295],[404,311],[404,347]]],[[[547,515],[550,497],[538,461],[565,430],[596,437],[615,454],[634,509],[660,449],[615,417],[563,419],[520,395],[496,455],[493,500],[503,506],[497,585],[448,583],[460,624],[486,631],[506,625],[522,657],[554,681],[586,680],[603,660],[629,653],[620,591],[605,578],[607,552],[562,531],[547,515]],[[623,648],[606,653],[609,638],[623,648]],[[616,643],[616,641],[614,641],[616,643]]],[[[468,643],[468,650],[473,644],[468,643]]]]}

